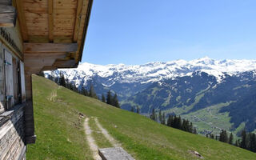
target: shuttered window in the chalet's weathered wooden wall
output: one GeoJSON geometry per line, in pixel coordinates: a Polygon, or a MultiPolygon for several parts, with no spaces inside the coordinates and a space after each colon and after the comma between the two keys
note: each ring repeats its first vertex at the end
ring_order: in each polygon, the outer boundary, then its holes
{"type": "Polygon", "coordinates": [[[24,64],[0,42],[0,114],[26,101],[24,64]]]}

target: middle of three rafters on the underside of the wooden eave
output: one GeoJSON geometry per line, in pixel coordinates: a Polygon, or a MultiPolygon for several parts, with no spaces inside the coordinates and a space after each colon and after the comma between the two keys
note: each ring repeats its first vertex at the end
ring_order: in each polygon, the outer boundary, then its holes
{"type": "Polygon", "coordinates": [[[48,0],[48,35],[49,41],[54,42],[54,3],[53,0],[48,0]]]}

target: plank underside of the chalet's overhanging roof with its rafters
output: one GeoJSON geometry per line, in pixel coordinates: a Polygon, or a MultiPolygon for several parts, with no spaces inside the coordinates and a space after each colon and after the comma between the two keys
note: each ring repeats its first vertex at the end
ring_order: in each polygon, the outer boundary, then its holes
{"type": "Polygon", "coordinates": [[[34,46],[41,46],[39,52],[44,52],[42,48],[53,46],[53,53],[66,55],[55,62],[54,67],[78,65],[82,58],[92,0],[16,0],[14,5],[18,11],[24,52],[34,50],[34,46]],[[54,47],[54,44],[57,47],[54,47]],[[58,50],[63,45],[64,47],[58,50]],[[73,47],[72,50],[69,46],[73,47]],[[77,47],[74,49],[74,46],[77,47]],[[64,50],[65,48],[67,50],[64,50]],[[60,62],[70,60],[74,64],[60,65],[60,62]]]}

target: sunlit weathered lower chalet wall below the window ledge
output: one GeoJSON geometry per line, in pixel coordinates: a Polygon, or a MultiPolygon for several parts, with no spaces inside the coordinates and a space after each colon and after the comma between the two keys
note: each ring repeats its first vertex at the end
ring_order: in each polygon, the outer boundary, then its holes
{"type": "Polygon", "coordinates": [[[26,159],[25,104],[0,114],[0,160],[26,159]]]}

